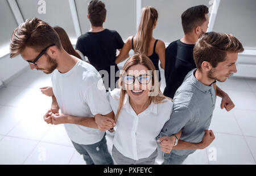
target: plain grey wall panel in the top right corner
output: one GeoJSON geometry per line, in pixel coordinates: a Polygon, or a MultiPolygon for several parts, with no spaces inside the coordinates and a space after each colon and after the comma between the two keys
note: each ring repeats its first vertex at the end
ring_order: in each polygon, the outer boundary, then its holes
{"type": "Polygon", "coordinates": [[[213,31],[232,33],[246,49],[256,49],[256,1],[221,0],[213,31]]]}

